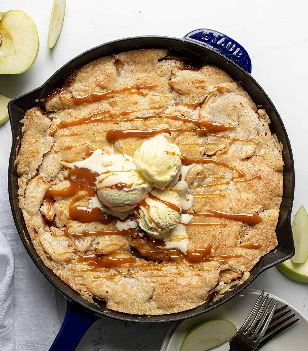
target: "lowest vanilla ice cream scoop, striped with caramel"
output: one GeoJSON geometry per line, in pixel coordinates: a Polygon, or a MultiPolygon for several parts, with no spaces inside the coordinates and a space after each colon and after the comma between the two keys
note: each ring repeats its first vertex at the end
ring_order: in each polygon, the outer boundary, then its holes
{"type": "Polygon", "coordinates": [[[153,189],[135,209],[139,227],[155,239],[164,238],[177,225],[181,214],[180,198],[169,189],[153,189]]]}

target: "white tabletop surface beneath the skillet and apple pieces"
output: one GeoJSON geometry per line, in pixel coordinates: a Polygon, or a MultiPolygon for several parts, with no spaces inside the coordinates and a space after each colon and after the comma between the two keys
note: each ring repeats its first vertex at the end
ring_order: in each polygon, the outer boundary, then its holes
{"type": "MultiPolygon", "coordinates": [[[[267,92],[288,131],[296,169],[293,216],[300,205],[308,209],[307,187],[307,5],[284,1],[98,1],[67,0],[59,41],[47,46],[52,0],[2,0],[1,11],[21,9],[34,20],[40,51],[33,66],[20,75],[1,75],[0,93],[17,97],[41,85],[68,60],[104,42],[134,35],[182,37],[197,28],[211,28],[239,41],[252,60],[252,75],[267,92]]],[[[9,123],[0,126],[0,162],[8,168],[9,123]]],[[[308,285],[297,284],[276,268],[250,286],[266,290],[308,317],[308,285]]],[[[64,314],[62,297],[58,296],[64,314]],[[63,308],[62,308],[63,306],[63,308]]],[[[97,321],[83,337],[78,351],[159,350],[170,324],[124,324],[97,321]]]]}

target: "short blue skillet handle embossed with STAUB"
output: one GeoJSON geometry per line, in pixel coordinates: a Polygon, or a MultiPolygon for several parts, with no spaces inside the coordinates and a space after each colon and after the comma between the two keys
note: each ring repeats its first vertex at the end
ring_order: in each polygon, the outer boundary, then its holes
{"type": "Polygon", "coordinates": [[[251,73],[251,60],[247,51],[237,41],[212,29],[196,29],[187,33],[186,40],[209,46],[251,73]]]}

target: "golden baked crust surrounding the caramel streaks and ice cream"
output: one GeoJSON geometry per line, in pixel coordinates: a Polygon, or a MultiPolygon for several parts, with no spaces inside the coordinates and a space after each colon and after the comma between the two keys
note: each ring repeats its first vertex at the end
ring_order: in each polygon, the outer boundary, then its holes
{"type": "MultiPolygon", "coordinates": [[[[44,111],[32,108],[26,112],[16,160],[19,205],[44,263],[85,299],[91,302],[93,296],[105,299],[108,308],[132,314],[174,313],[201,305],[211,296],[219,298],[233,284],[247,279],[260,257],[277,244],[275,227],[283,192],[282,145],[269,130],[266,112],[258,110],[241,86],[219,68],[204,65],[199,70],[186,69],[183,60],[163,59],[166,54],[161,49],[125,52],[78,69],[73,80],[47,98],[44,111]],[[110,98],[80,104],[74,100],[135,85],[152,87],[139,90],[144,94],[119,92],[110,98]],[[185,106],[192,102],[194,107],[185,106]],[[76,121],[102,111],[118,114],[113,117],[117,120],[128,120],[85,123],[53,132],[61,121],[76,121]],[[153,115],[159,119],[144,119],[153,115]],[[143,242],[140,249],[141,239],[130,235],[63,236],[72,198],[55,197],[50,202],[46,197],[48,188],[65,188],[70,163],[83,160],[89,150],[102,148],[110,153],[113,148],[133,157],[145,140],[134,137],[111,145],[106,141],[108,130],[192,129],[192,124],[166,119],[164,115],[236,127],[203,136],[191,131],[170,133],[166,138],[190,159],[212,158],[246,174],[245,178],[237,179],[236,172],[226,167],[194,166],[186,177],[194,196],[194,211],[211,208],[255,213],[262,222],[251,226],[230,219],[195,216],[193,225],[187,229],[189,249],[212,245],[213,259],[201,263],[186,260],[153,263],[142,256],[150,244],[143,242]],[[259,244],[259,248],[240,246],[249,243],[259,244]],[[84,270],[78,256],[94,252],[136,257],[137,262],[129,268],[84,270]]],[[[87,206],[88,202],[89,198],[85,198],[79,203],[87,206]]],[[[73,233],[115,230],[115,221],[108,225],[69,223],[73,233]]]]}

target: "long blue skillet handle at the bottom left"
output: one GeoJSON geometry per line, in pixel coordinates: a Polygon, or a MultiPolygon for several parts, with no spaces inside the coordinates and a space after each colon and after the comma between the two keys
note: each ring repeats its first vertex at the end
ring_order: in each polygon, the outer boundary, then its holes
{"type": "Polygon", "coordinates": [[[66,314],[49,351],[74,351],[87,329],[100,317],[80,309],[66,299],[66,314]]]}

